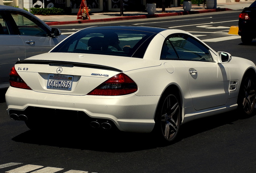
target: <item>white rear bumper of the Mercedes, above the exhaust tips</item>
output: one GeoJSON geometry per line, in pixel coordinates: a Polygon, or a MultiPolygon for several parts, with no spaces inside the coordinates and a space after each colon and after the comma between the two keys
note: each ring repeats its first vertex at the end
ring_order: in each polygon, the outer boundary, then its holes
{"type": "MultiPolygon", "coordinates": [[[[82,117],[88,117],[89,121],[109,120],[120,131],[139,133],[153,130],[159,99],[160,96],[142,97],[134,94],[114,97],[59,95],[13,87],[6,92],[8,115],[26,113],[28,118],[45,116],[48,117],[47,121],[51,121],[54,116],[61,119],[65,113],[74,118],[75,112],[79,112],[82,117]],[[54,110],[59,111],[56,113],[54,110]]],[[[87,118],[83,120],[88,121],[87,118]]]]}

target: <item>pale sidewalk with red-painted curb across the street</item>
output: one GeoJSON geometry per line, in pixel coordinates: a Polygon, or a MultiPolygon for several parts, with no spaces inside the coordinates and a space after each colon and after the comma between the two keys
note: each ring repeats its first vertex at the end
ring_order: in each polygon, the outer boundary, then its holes
{"type": "Polygon", "coordinates": [[[36,15],[38,18],[43,20],[48,25],[65,25],[65,24],[82,24],[90,22],[108,22],[108,21],[122,21],[132,19],[144,19],[144,18],[157,18],[166,16],[181,16],[188,14],[200,14],[206,12],[220,12],[228,10],[243,10],[245,7],[250,6],[254,0],[242,1],[242,2],[229,2],[229,3],[218,3],[215,9],[203,9],[202,4],[199,6],[194,4],[190,11],[186,12],[182,6],[165,8],[165,13],[162,12],[162,8],[157,8],[155,14],[147,14],[147,11],[142,12],[126,12],[124,16],[120,16],[120,12],[95,12],[89,13],[90,20],[76,19],[74,15],[51,15],[43,16],[36,15]]]}

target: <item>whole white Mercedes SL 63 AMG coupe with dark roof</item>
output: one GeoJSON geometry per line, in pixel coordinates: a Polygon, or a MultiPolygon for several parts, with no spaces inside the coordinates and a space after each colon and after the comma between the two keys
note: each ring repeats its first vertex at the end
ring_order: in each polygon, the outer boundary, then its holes
{"type": "Polygon", "coordinates": [[[30,129],[73,124],[152,132],[165,142],[194,119],[235,109],[251,115],[255,101],[252,61],[182,30],[146,26],[80,30],[18,61],[6,92],[8,115],[30,129]]]}

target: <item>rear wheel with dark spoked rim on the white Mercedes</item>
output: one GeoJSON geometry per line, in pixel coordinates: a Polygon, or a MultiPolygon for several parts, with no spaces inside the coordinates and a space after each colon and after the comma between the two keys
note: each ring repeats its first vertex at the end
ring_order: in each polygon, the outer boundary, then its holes
{"type": "Polygon", "coordinates": [[[155,115],[155,135],[164,143],[173,142],[181,124],[181,108],[178,97],[163,95],[155,115]]]}

